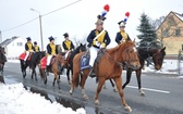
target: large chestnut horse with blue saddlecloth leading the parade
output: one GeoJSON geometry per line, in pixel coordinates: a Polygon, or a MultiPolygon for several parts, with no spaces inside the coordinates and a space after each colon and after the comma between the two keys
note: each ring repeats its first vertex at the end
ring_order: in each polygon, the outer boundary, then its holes
{"type": "MultiPolygon", "coordinates": [[[[81,58],[84,54],[84,52],[78,53],[75,55],[73,61],[73,78],[72,78],[72,86],[70,93],[72,94],[74,91],[74,87],[77,87],[78,84],[82,87],[82,94],[84,99],[88,99],[87,94],[85,93],[85,81],[89,74],[89,68],[83,69],[83,77],[80,81],[80,73],[81,73],[81,58]]],[[[101,56],[101,60],[97,65],[95,65],[95,72],[97,75],[97,78],[99,80],[97,92],[95,96],[95,103],[99,104],[98,94],[101,91],[102,85],[107,79],[113,79],[117,84],[117,88],[119,90],[119,94],[122,100],[122,104],[124,105],[125,110],[129,112],[132,111],[131,106],[129,106],[125,102],[123,90],[121,88],[122,86],[122,63],[125,62],[129,67],[132,67],[134,69],[139,68],[139,61],[137,56],[137,51],[135,48],[134,41],[125,41],[121,43],[120,46],[108,49],[103,55],[101,56]]]]}

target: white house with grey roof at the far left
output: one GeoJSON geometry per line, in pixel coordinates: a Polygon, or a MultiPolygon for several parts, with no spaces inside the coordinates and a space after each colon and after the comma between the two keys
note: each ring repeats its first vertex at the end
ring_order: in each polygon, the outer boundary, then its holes
{"type": "Polygon", "coordinates": [[[5,39],[1,45],[4,47],[5,55],[8,60],[17,59],[21,53],[25,51],[25,40],[21,37],[12,37],[5,39]]]}

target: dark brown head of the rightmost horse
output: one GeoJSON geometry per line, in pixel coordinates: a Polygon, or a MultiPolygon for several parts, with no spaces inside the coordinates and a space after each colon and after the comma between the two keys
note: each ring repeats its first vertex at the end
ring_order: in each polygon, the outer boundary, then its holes
{"type": "Polygon", "coordinates": [[[162,48],[162,49],[157,49],[152,53],[152,61],[154,61],[156,69],[160,69],[161,68],[164,55],[166,55],[166,47],[162,48]]]}

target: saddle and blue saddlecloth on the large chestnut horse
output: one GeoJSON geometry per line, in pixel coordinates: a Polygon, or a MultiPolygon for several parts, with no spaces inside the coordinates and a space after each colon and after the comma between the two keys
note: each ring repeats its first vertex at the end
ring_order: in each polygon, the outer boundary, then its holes
{"type": "MultiPolygon", "coordinates": [[[[98,51],[94,65],[100,62],[100,59],[102,58],[106,51],[107,49],[100,49],[98,51]]],[[[81,58],[81,71],[89,68],[89,61],[90,61],[90,52],[89,50],[87,50],[81,58]]]]}

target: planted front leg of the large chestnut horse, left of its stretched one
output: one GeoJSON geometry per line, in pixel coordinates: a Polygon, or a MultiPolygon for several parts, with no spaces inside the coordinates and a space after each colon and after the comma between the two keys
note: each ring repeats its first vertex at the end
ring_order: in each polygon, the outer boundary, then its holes
{"type": "Polygon", "coordinates": [[[105,81],[106,81],[106,78],[103,78],[103,77],[99,78],[99,83],[98,83],[98,87],[97,87],[97,91],[96,91],[96,96],[95,96],[95,104],[99,104],[98,96],[99,96],[99,92],[101,91],[101,88],[102,88],[105,81]]]}

